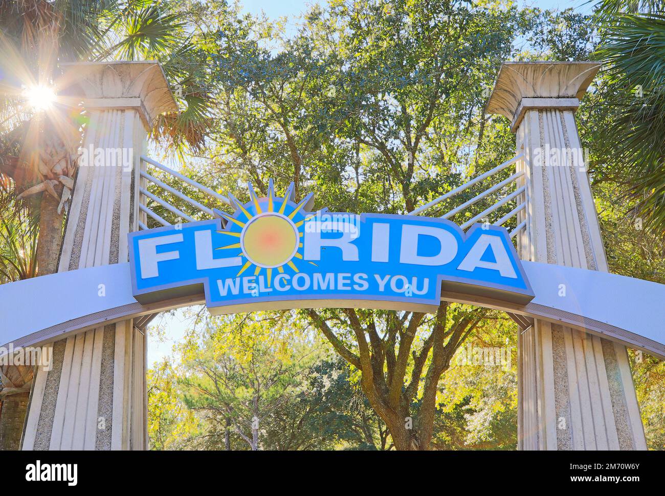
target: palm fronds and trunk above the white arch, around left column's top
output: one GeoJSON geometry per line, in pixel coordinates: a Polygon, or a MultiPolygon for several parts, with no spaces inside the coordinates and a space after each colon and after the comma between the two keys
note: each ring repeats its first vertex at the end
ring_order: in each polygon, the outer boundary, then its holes
{"type": "Polygon", "coordinates": [[[187,110],[162,118],[157,134],[178,144],[196,146],[201,141],[206,94],[192,77],[200,72],[199,60],[176,5],[146,0],[0,3],[0,74],[5,74],[0,86],[0,173],[14,180],[19,199],[41,197],[40,275],[57,268],[80,141],[80,123],[72,119],[72,108],[53,99],[63,81],[59,63],[162,60],[167,76],[184,87],[187,110]]]}

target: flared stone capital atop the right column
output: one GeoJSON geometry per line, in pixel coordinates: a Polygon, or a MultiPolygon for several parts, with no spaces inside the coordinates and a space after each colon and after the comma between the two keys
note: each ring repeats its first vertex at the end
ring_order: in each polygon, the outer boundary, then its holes
{"type": "Polygon", "coordinates": [[[599,68],[599,62],[503,62],[485,112],[511,119],[515,132],[529,109],[575,111],[599,68]]]}

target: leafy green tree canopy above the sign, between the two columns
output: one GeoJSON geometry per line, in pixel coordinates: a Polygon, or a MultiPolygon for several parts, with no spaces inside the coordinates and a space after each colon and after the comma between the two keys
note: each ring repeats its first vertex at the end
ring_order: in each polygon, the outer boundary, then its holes
{"type": "Polygon", "coordinates": [[[265,193],[272,177],[331,209],[404,212],[510,156],[507,129],[480,130],[517,11],[386,5],[314,7],[291,39],[220,3],[205,11],[219,88],[211,169],[232,193],[238,179],[265,193]]]}

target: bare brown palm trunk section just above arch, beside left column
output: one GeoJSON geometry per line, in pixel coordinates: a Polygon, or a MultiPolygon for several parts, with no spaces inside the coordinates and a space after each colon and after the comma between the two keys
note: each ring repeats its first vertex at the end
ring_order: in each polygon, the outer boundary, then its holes
{"type": "Polygon", "coordinates": [[[63,241],[63,216],[58,213],[60,201],[47,192],[42,193],[37,242],[37,274],[45,276],[58,270],[60,244],[63,241]]]}

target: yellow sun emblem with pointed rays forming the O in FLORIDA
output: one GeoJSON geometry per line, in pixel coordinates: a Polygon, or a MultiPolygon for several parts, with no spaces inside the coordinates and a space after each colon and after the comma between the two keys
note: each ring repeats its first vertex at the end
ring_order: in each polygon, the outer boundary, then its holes
{"type": "MultiPolygon", "coordinates": [[[[239,238],[239,242],[215,249],[240,248],[241,252],[237,256],[241,256],[244,263],[237,276],[250,267],[253,267],[255,276],[265,270],[270,286],[273,269],[281,274],[287,266],[294,272],[300,272],[297,263],[305,263],[300,250],[303,248],[305,220],[315,215],[309,212],[314,193],[309,193],[299,203],[295,203],[293,183],[283,198],[275,197],[272,179],[268,183],[265,198],[257,197],[251,183],[247,183],[247,188],[250,198],[248,203],[243,204],[229,195],[235,210],[232,216],[215,209],[215,214],[227,220],[225,229],[219,233],[239,238]]],[[[313,262],[307,263],[316,265],[313,262]]]]}

